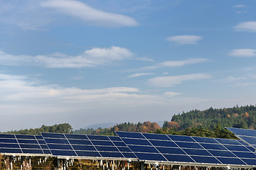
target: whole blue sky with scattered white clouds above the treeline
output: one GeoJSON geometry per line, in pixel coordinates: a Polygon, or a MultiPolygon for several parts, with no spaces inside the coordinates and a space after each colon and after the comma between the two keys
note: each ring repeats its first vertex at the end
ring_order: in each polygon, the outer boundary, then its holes
{"type": "Polygon", "coordinates": [[[256,104],[255,0],[0,0],[0,132],[256,104]]]}

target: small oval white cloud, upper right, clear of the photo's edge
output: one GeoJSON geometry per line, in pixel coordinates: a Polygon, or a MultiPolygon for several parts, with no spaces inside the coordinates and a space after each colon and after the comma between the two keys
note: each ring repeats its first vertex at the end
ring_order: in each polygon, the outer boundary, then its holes
{"type": "Polygon", "coordinates": [[[177,35],[177,36],[167,38],[168,41],[176,42],[181,45],[186,45],[186,44],[194,45],[194,44],[197,44],[197,42],[202,39],[203,39],[202,36],[198,36],[198,35],[177,35]]]}

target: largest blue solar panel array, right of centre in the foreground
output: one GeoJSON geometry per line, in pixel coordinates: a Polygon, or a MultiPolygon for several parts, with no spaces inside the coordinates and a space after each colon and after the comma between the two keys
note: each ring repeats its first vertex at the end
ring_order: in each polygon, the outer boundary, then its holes
{"type": "Polygon", "coordinates": [[[256,166],[255,149],[241,140],[116,132],[140,161],[256,166]]]}

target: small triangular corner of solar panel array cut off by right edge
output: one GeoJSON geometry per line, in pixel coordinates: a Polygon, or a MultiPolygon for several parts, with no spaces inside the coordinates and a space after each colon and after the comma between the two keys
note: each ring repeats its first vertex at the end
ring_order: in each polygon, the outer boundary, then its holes
{"type": "Polygon", "coordinates": [[[238,129],[238,128],[227,128],[233,132],[241,140],[244,140],[252,147],[256,149],[256,130],[238,129]]]}

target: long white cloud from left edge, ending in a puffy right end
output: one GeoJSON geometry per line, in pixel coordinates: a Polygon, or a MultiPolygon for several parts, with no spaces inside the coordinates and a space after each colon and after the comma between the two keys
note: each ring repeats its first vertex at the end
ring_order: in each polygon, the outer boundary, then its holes
{"type": "Polygon", "coordinates": [[[56,52],[52,55],[9,55],[0,51],[0,65],[40,65],[49,68],[80,68],[108,65],[133,57],[133,53],[124,47],[86,50],[80,55],[69,56],[56,52]]]}

